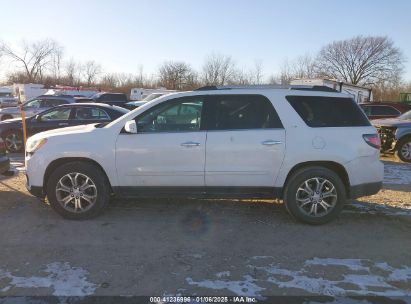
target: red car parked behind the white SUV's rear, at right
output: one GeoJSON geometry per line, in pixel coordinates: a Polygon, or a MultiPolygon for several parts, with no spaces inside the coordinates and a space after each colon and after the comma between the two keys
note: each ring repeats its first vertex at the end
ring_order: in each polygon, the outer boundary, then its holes
{"type": "Polygon", "coordinates": [[[411,110],[411,104],[401,102],[368,102],[360,107],[370,120],[398,117],[411,110]]]}

